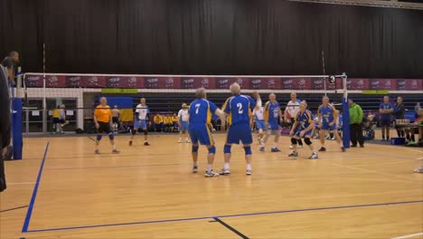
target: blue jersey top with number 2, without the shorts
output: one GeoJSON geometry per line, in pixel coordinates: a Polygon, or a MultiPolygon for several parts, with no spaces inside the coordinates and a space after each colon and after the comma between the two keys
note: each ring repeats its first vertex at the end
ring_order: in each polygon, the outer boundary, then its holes
{"type": "Polygon", "coordinates": [[[249,123],[250,110],[253,110],[256,105],[256,100],[240,94],[228,98],[223,105],[223,111],[228,114],[231,125],[249,123]]]}

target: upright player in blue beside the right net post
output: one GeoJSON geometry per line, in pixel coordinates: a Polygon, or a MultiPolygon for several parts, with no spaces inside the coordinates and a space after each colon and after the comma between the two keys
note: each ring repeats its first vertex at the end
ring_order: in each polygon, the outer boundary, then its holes
{"type": "Polygon", "coordinates": [[[326,134],[332,132],[334,134],[334,139],[340,145],[341,150],[345,151],[343,148],[343,143],[341,142],[341,137],[339,137],[338,127],[336,125],[336,120],[338,119],[337,110],[334,108],[334,105],[329,104],[329,97],[324,96],[322,98],[322,104],[319,106],[317,110],[319,122],[319,135],[320,135],[320,142],[322,143],[322,148],[319,149],[320,152],[326,151],[326,147],[324,147],[324,137],[326,134]]]}

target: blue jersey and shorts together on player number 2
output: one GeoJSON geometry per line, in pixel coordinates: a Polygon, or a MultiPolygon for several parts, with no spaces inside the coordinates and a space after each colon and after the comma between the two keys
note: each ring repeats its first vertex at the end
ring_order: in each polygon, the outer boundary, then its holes
{"type": "Polygon", "coordinates": [[[249,128],[250,110],[257,103],[246,95],[236,95],[226,100],[223,111],[228,114],[230,128],[228,129],[227,144],[251,144],[251,129],[249,128]]]}

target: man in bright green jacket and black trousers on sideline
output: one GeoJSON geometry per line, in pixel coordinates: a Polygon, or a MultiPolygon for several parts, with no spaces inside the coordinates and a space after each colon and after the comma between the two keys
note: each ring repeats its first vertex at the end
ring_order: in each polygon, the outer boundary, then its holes
{"type": "Polygon", "coordinates": [[[357,147],[357,141],[361,148],[364,148],[364,139],[362,137],[362,107],[348,100],[350,105],[350,134],[351,134],[351,147],[357,147]]]}

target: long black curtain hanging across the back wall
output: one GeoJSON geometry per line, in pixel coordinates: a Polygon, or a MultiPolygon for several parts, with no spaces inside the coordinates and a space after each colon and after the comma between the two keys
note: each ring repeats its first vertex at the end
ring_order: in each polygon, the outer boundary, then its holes
{"type": "Polygon", "coordinates": [[[26,72],[423,78],[423,11],[281,0],[0,0],[26,72]]]}

